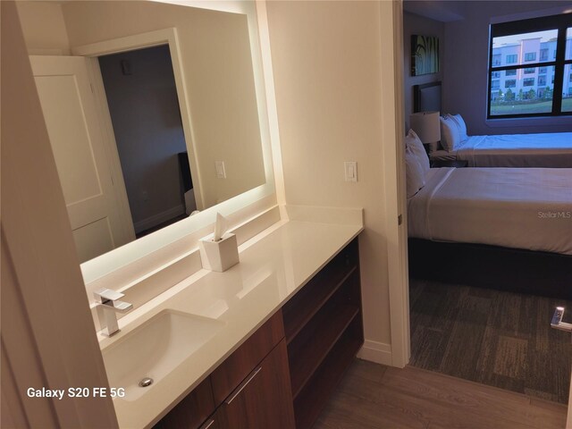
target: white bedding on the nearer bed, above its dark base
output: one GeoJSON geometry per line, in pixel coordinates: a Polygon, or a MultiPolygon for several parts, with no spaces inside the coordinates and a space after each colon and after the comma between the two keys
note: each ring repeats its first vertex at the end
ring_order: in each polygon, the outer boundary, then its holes
{"type": "Polygon", "coordinates": [[[431,169],[408,234],[572,255],[572,169],[431,169]]]}

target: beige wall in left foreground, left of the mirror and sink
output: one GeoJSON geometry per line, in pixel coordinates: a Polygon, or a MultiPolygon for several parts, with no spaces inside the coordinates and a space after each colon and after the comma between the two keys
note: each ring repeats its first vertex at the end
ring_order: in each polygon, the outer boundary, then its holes
{"type": "Polygon", "coordinates": [[[112,429],[111,398],[26,394],[108,383],[16,8],[0,7],[1,425],[112,429]]]}

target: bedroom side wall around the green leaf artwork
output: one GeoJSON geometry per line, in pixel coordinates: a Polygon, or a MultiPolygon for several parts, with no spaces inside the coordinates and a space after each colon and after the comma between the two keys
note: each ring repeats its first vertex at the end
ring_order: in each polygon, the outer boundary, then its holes
{"type": "Polygon", "coordinates": [[[409,116],[413,113],[413,86],[443,80],[443,49],[445,46],[445,25],[440,21],[403,13],[403,71],[404,71],[404,105],[406,130],[409,129],[409,116]],[[439,38],[439,72],[411,76],[411,36],[434,36],[439,38]]]}

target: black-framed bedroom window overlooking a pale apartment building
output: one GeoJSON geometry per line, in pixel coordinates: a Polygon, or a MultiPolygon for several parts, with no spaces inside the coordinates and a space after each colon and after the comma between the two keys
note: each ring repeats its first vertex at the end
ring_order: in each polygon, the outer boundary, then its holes
{"type": "Polygon", "coordinates": [[[489,119],[572,115],[572,13],[492,24],[490,34],[489,119]]]}

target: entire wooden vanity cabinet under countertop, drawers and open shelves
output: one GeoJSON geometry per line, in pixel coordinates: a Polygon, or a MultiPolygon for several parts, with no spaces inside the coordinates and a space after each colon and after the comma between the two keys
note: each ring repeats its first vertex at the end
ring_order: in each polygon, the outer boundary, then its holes
{"type": "Polygon", "coordinates": [[[156,428],[309,429],[364,342],[357,239],[156,428]]]}

